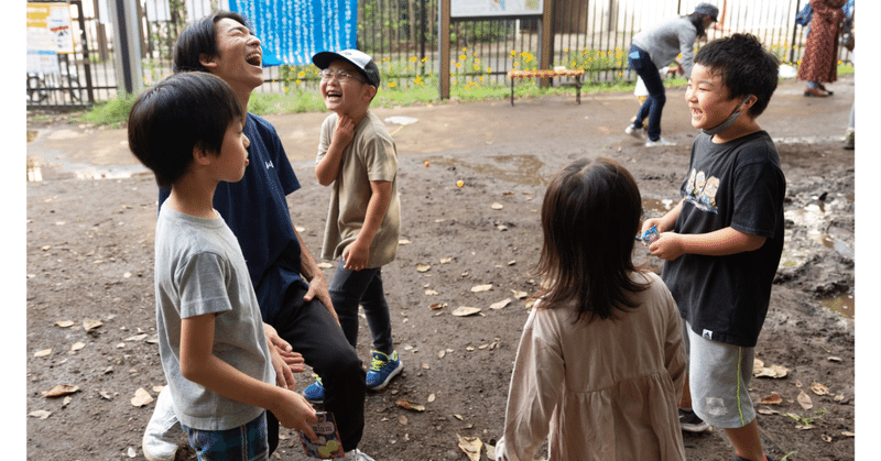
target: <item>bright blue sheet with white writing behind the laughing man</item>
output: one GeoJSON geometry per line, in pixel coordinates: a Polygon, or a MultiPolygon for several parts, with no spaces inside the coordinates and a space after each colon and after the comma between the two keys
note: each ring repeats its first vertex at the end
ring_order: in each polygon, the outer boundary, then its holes
{"type": "Polygon", "coordinates": [[[355,48],[358,0],[229,0],[263,47],[263,65],[312,64],[324,51],[355,48]]]}

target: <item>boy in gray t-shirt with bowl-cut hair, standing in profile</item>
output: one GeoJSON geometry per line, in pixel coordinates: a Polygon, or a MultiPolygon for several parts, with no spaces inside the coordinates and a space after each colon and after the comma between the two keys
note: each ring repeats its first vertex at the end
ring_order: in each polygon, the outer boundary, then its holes
{"type": "Polygon", "coordinates": [[[132,153],[172,190],[156,222],[156,327],[174,410],[199,459],[268,459],[264,409],[316,440],[315,410],[274,384],[282,359],[238,240],[211,205],[217,184],[248,166],[243,120],[229,85],[204,73],[162,80],[129,114],[132,153]]]}

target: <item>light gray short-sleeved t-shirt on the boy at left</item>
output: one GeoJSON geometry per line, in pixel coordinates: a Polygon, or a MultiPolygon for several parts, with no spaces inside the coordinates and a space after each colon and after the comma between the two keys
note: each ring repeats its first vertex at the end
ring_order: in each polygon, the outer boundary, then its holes
{"type": "Polygon", "coordinates": [[[177,419],[187,427],[225,430],[263,408],[224,397],[181,375],[181,319],[215,314],[211,352],[240,372],[275,382],[263,321],[236,235],[218,215],[196,218],[162,207],[155,242],[156,329],[177,419]]]}

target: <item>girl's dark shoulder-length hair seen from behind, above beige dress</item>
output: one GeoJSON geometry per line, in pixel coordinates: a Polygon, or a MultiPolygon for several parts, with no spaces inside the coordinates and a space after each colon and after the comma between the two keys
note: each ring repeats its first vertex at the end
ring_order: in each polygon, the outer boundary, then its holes
{"type": "Polygon", "coordinates": [[[575,305],[574,322],[635,307],[632,294],[648,287],[629,276],[641,216],[637,182],[614,161],[585,158],[559,172],[542,204],[542,306],[575,305]]]}

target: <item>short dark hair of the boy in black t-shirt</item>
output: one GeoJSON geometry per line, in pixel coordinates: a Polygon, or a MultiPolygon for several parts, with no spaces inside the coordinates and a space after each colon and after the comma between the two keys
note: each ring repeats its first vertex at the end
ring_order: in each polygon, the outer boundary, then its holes
{"type": "Polygon", "coordinates": [[[707,43],[695,55],[695,64],[721,75],[731,99],[755,95],[758,100],[749,110],[753,119],[764,112],[777,88],[780,61],[752,34],[733,34],[707,43]]]}

